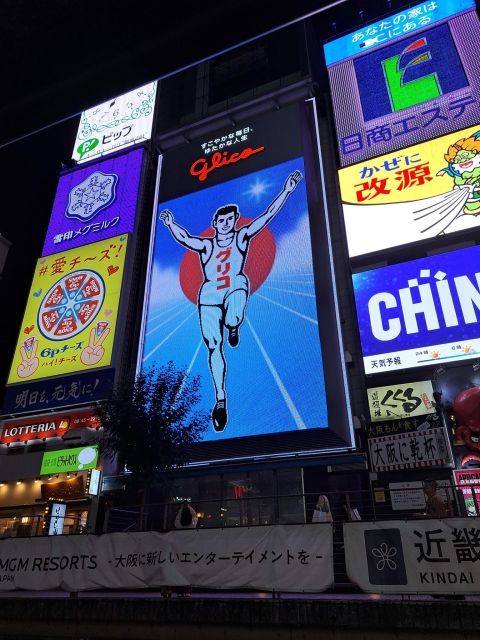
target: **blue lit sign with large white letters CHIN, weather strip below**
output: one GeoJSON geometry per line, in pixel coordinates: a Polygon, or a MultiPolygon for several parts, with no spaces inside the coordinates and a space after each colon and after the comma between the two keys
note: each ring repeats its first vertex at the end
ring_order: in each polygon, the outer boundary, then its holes
{"type": "Polygon", "coordinates": [[[478,358],[480,247],[353,275],[365,373],[478,358]]]}

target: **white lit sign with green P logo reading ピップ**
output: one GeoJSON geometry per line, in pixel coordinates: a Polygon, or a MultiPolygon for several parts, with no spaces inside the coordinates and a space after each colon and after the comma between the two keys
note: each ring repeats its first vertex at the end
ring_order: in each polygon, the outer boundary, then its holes
{"type": "Polygon", "coordinates": [[[156,93],[157,83],[150,82],[84,111],[72,158],[85,162],[149,140],[156,93]]]}

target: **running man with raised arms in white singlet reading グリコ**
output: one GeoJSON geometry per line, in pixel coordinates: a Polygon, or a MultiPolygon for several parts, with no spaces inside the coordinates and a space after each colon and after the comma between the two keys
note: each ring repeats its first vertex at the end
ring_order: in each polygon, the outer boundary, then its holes
{"type": "Polygon", "coordinates": [[[227,363],[223,352],[224,330],[228,332],[230,347],[240,343],[239,329],[245,320],[250,283],[245,275],[250,241],[277,215],[289,195],[303,176],[291,173],[282,191],[260,216],[241,229],[236,228],[240,218],[238,205],[227,204],[214,213],[213,238],[192,236],[175,222],[173,214],[165,209],[160,214],[173,238],[182,246],[198,253],[203,272],[203,284],[198,294],[198,313],[203,341],[208,349],[208,364],[215,389],[212,410],[213,428],[224,431],[228,422],[225,380],[227,363]]]}

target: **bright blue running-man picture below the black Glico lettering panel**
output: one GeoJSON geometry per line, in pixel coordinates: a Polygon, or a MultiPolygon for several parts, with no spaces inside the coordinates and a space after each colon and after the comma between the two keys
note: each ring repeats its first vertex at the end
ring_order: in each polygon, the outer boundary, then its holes
{"type": "Polygon", "coordinates": [[[305,180],[284,191],[295,172],[305,175],[301,157],[158,206],[198,250],[157,215],[142,362],[173,360],[200,375],[209,412],[226,399],[224,431],[212,424],[205,439],[327,426],[305,180]],[[272,202],[274,217],[262,221],[272,202]],[[240,217],[225,236],[232,221],[219,216],[225,240],[211,225],[228,204],[240,217]]]}

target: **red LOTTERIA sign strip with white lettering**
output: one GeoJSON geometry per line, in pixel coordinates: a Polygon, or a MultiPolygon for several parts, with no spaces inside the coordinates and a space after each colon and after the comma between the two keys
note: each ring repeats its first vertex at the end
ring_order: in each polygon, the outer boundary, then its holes
{"type": "Polygon", "coordinates": [[[67,431],[79,427],[100,426],[99,419],[91,411],[71,415],[46,414],[28,420],[8,420],[3,424],[0,443],[27,442],[34,438],[62,437],[67,431]]]}

